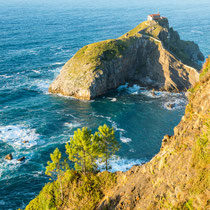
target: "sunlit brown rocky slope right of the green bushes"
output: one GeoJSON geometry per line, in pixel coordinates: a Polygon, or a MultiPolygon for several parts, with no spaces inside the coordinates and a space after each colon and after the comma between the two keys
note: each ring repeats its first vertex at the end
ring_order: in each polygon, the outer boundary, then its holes
{"type": "Polygon", "coordinates": [[[208,209],[210,58],[174,136],[165,135],[148,163],[117,172],[118,181],[98,209],[208,209]]]}

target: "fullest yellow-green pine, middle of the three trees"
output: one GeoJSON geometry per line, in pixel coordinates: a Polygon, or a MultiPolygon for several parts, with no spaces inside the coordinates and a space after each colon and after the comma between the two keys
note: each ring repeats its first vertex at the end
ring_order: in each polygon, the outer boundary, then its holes
{"type": "Polygon", "coordinates": [[[74,132],[73,138],[70,138],[70,142],[66,144],[66,153],[69,155],[69,160],[75,163],[77,171],[86,173],[97,168],[98,145],[87,127],[74,132]]]}

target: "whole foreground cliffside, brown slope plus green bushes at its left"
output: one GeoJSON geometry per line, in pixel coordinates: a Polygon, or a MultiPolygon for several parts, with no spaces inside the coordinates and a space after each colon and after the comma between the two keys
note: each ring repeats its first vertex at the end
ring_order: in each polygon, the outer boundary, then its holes
{"type": "Polygon", "coordinates": [[[48,183],[26,210],[36,209],[209,209],[210,57],[174,135],[160,152],[127,172],[79,175],[66,172],[48,183]]]}

